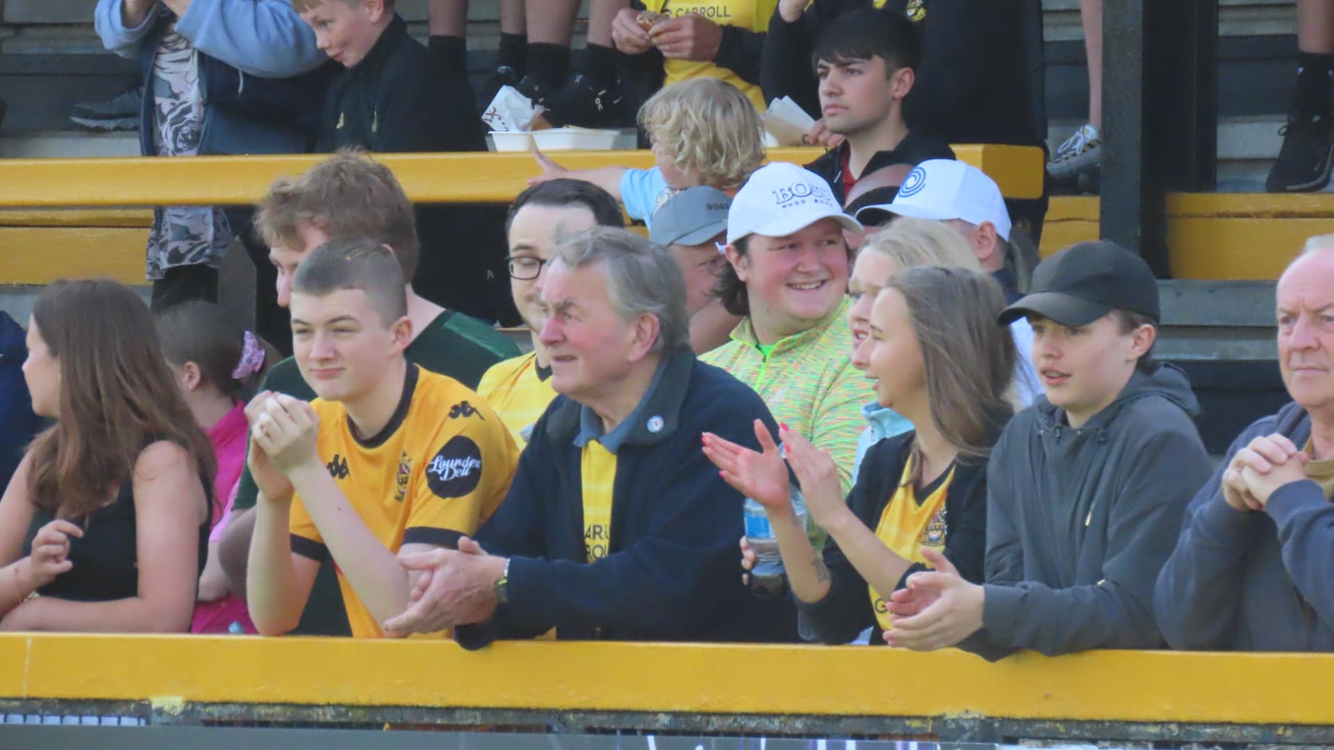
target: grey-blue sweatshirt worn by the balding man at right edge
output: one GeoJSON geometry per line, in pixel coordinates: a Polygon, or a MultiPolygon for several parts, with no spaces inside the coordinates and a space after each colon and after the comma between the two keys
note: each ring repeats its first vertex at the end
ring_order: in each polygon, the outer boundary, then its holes
{"type": "Polygon", "coordinates": [[[1285,406],[1246,428],[1195,495],[1154,609],[1173,649],[1334,651],[1334,504],[1310,479],[1283,484],[1263,512],[1242,512],[1219,488],[1233,455],[1279,432],[1298,446],[1311,418],[1285,406]]]}

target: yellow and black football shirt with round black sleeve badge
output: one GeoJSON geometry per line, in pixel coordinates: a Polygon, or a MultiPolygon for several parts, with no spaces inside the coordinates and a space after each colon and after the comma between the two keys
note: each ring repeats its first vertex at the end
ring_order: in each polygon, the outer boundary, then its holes
{"type": "MultiPolygon", "coordinates": [[[[452,378],[408,364],[394,416],[364,440],[342,403],[315,399],[311,407],[320,418],[320,460],[390,551],[410,543],[452,547],[476,532],[510,490],[519,448],[491,407],[452,378]]],[[[291,532],[293,552],[329,555],[300,496],[292,500],[291,532]]],[[[338,578],[352,635],[383,637],[340,567],[338,578]]]]}

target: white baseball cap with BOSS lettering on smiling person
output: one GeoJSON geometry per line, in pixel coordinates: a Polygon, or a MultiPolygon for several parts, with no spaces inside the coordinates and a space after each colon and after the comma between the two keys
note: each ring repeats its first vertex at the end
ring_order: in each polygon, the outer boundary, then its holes
{"type": "Polygon", "coordinates": [[[824,177],[787,161],[766,164],[751,173],[727,211],[727,244],[746,235],[786,238],[820,219],[836,219],[848,231],[862,224],[843,214],[824,177]]]}

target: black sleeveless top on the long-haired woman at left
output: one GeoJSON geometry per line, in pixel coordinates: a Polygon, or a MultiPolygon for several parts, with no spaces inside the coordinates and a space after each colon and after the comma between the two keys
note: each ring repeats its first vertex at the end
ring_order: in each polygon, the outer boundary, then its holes
{"type": "MultiPolygon", "coordinates": [[[[211,488],[204,484],[204,502],[212,508],[211,488]]],[[[56,514],[33,508],[32,523],[23,540],[23,554],[32,554],[32,539],[43,526],[55,520],[56,514]]],[[[208,559],[209,520],[199,527],[199,571],[208,559]]],[[[115,502],[73,520],[83,527],[81,538],[69,538],[69,560],[73,567],[37,590],[43,597],[56,597],[75,602],[111,602],[139,595],[139,536],[135,524],[133,482],[120,484],[115,502]]]]}

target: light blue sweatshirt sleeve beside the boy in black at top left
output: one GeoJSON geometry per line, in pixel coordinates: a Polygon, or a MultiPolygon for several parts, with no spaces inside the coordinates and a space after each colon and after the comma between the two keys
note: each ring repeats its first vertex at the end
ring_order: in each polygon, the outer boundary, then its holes
{"type": "Polygon", "coordinates": [[[204,55],[251,76],[285,79],[328,61],[288,0],[192,0],[176,31],[204,55]]]}

